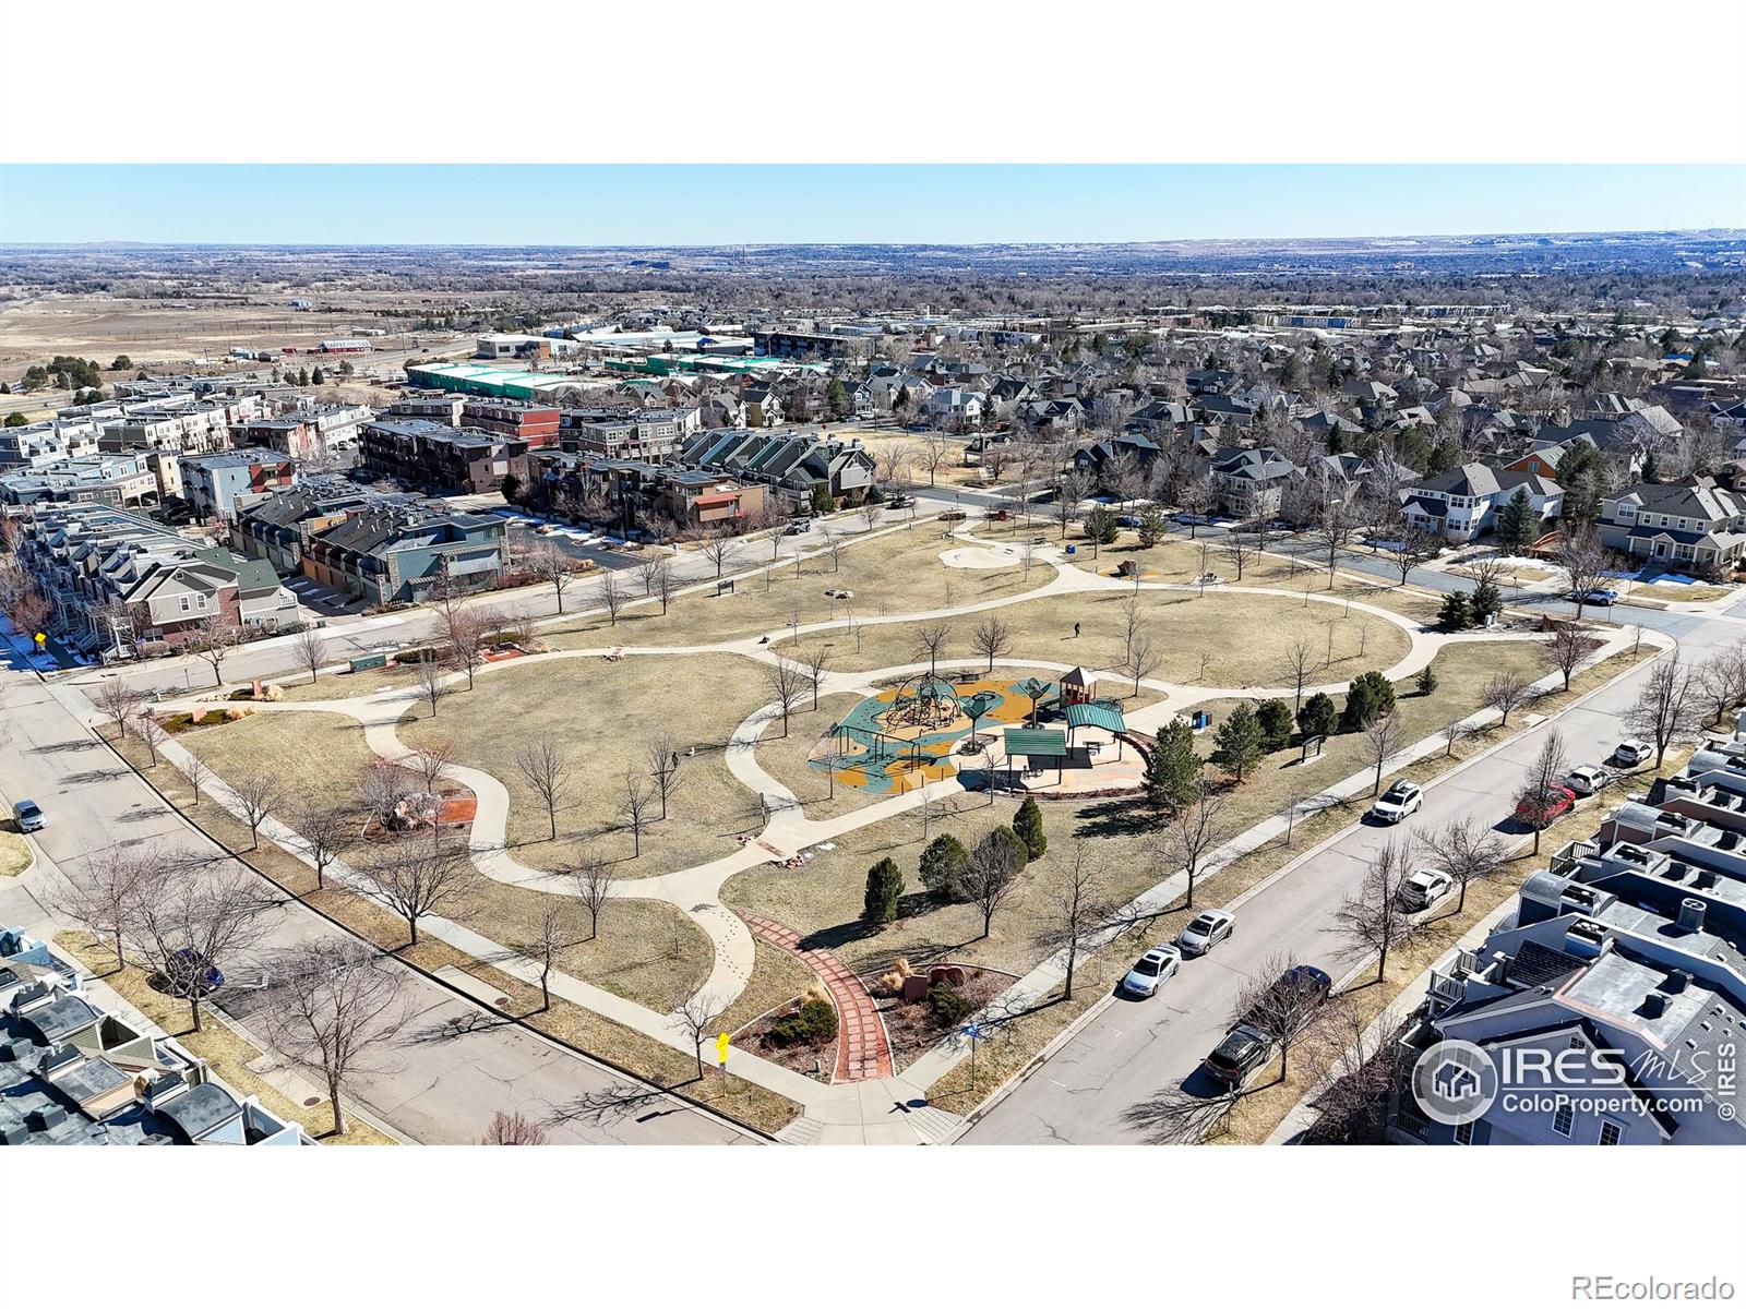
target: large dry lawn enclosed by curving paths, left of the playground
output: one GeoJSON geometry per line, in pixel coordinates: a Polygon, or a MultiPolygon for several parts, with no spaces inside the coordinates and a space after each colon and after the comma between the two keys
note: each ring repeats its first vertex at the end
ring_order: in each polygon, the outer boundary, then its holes
{"type": "Polygon", "coordinates": [[[449,740],[456,763],[503,782],[506,840],[520,862],[557,871],[587,845],[615,860],[618,876],[646,878],[730,853],[737,833],[761,826],[758,796],[728,771],[726,744],[766,700],[765,668],[737,654],[513,660],[480,675],[473,691],[445,698],[435,719],[410,707],[400,738],[414,749],[449,740]],[[679,791],[670,817],[643,833],[643,855],[632,857],[618,805],[625,775],[648,775],[644,756],[662,730],[681,756],[679,791]],[[515,764],[541,737],[571,764],[557,841],[545,805],[515,764]]]}

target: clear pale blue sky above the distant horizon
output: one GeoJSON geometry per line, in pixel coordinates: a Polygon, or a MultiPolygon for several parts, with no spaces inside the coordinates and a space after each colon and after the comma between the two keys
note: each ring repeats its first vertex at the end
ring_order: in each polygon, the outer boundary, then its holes
{"type": "Polygon", "coordinates": [[[0,166],[0,241],[716,244],[1746,227],[1732,166],[0,166]]]}

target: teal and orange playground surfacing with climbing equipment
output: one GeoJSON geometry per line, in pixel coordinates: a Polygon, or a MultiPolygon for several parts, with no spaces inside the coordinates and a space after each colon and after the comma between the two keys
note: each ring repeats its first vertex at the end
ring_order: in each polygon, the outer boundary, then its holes
{"type": "Polygon", "coordinates": [[[920,675],[868,696],[814,747],[808,764],[835,770],[836,782],[878,796],[901,796],[957,773],[955,757],[974,719],[978,738],[1025,723],[1034,707],[1058,700],[1058,682],[1004,677],[920,675]]]}

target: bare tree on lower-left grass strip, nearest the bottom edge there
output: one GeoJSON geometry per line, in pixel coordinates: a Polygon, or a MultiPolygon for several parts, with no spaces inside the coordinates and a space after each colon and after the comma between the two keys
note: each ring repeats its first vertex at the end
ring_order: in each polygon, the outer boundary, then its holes
{"type": "Polygon", "coordinates": [[[344,1094],[365,1072],[384,1070],[384,1052],[410,1018],[405,969],[353,937],[316,937],[281,951],[271,965],[264,1009],[274,1049],[318,1075],[346,1134],[344,1094]]]}

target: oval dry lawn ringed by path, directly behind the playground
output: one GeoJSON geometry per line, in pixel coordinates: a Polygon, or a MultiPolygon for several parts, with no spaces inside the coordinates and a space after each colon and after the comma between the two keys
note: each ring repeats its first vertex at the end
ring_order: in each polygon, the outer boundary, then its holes
{"type": "MultiPolygon", "coordinates": [[[[1077,663],[1093,670],[1112,670],[1123,661],[1126,607],[1137,599],[1145,618],[1152,648],[1159,654],[1152,681],[1189,686],[1276,686],[1283,677],[1287,648],[1304,639],[1316,656],[1330,653],[1323,681],[1350,681],[1367,668],[1388,668],[1411,649],[1411,637],[1386,618],[1346,611],[1337,604],[1306,604],[1289,597],[1250,595],[1243,592],[1142,590],[1048,595],[1020,600],[993,611],[1013,632],[1007,658],[1042,658],[1077,663]],[[1081,635],[1074,637],[1074,623],[1081,635]],[[1364,651],[1362,654],[1358,651],[1364,651]],[[1329,677],[1332,674],[1332,677],[1329,677]]],[[[950,620],[952,637],[943,658],[974,660],[971,635],[990,614],[964,614],[950,620]]],[[[915,639],[922,623],[868,625],[861,649],[840,642],[835,668],[887,668],[917,661],[915,639]]],[[[814,637],[784,641],[784,651],[805,649],[814,637]]],[[[925,661],[925,654],[920,661],[925,661]]],[[[1103,695],[1126,698],[1133,682],[1121,675],[1103,679],[1103,695]]]]}

